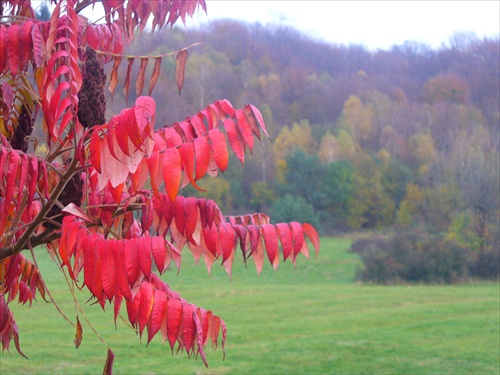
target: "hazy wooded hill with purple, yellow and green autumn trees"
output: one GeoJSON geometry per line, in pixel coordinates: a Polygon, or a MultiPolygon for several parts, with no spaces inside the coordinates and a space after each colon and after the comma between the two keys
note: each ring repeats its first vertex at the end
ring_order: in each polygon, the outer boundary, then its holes
{"type": "Polygon", "coordinates": [[[130,53],[197,42],[180,96],[174,57],[162,61],[157,123],[226,98],[260,108],[273,138],[243,168],[203,185],[223,209],[310,221],[325,232],[418,226],[498,248],[498,36],[457,33],[438,50],[407,42],[372,52],[225,20],[154,33],[130,53]]]}

